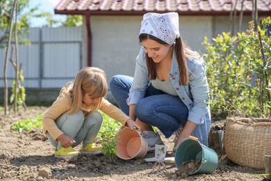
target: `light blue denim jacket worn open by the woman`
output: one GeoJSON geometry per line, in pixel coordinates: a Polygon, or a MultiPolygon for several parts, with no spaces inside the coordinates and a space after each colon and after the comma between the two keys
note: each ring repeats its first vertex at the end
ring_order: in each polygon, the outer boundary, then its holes
{"type": "MultiPolygon", "coordinates": [[[[172,81],[176,93],[189,109],[188,120],[197,125],[202,125],[204,121],[210,123],[209,92],[204,60],[203,58],[197,60],[186,59],[186,63],[188,67],[189,84],[185,86],[179,85],[180,72],[175,53],[170,69],[170,80],[172,81]],[[206,120],[206,118],[208,120],[206,120]]],[[[136,104],[139,100],[144,98],[148,86],[149,79],[147,77],[145,51],[144,48],[141,47],[138,57],[136,58],[136,70],[133,77],[133,85],[130,88],[129,98],[126,100],[127,104],[136,104]]]]}

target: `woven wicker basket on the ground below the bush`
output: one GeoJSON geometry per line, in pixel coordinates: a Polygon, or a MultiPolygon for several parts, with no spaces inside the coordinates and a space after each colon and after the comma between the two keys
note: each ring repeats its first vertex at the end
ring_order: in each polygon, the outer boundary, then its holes
{"type": "Polygon", "coordinates": [[[263,156],[271,155],[271,119],[227,118],[224,148],[240,166],[265,168],[263,156]]]}

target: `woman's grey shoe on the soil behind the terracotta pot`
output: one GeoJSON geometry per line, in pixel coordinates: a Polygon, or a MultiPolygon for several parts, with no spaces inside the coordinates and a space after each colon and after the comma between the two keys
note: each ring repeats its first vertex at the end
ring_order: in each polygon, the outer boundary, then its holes
{"type": "Polygon", "coordinates": [[[148,151],[155,150],[155,145],[163,145],[163,141],[157,132],[144,131],[142,137],[148,143],[148,151]]]}

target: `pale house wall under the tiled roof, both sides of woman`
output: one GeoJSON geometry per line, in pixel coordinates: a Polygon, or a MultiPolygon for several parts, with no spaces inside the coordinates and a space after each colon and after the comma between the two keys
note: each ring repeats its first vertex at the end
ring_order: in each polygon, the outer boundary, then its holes
{"type": "MultiPolygon", "coordinates": [[[[140,49],[138,33],[141,16],[93,16],[90,18],[92,31],[92,66],[105,70],[108,81],[115,74],[133,76],[136,56],[140,49]]],[[[179,29],[183,40],[192,49],[203,51],[204,36],[211,38],[212,17],[181,17],[179,29]]],[[[85,30],[84,30],[85,31],[85,30]]],[[[83,41],[87,34],[83,33],[83,41]]],[[[83,46],[86,43],[83,42],[83,46]]],[[[83,57],[86,57],[86,48],[83,57]]],[[[86,61],[86,58],[83,58],[86,61]]],[[[83,63],[84,65],[86,63],[83,63]]]]}

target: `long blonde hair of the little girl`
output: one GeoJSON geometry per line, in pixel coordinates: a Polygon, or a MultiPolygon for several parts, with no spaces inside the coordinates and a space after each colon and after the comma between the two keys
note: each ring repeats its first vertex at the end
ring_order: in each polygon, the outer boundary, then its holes
{"type": "Polygon", "coordinates": [[[106,73],[99,68],[82,68],[76,74],[74,83],[69,86],[64,86],[61,92],[63,91],[69,93],[72,99],[72,107],[67,112],[68,114],[76,113],[81,108],[83,95],[85,95],[85,93],[88,93],[92,98],[98,98],[98,101],[90,107],[90,110],[97,111],[103,97],[108,91],[106,73]]]}

